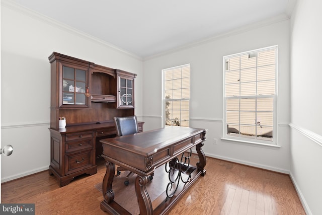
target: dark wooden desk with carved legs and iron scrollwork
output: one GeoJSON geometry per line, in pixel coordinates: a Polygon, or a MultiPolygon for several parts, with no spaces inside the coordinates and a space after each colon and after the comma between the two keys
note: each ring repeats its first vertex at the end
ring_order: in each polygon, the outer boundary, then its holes
{"type": "MultiPolygon", "coordinates": [[[[137,174],[135,193],[141,215],[166,213],[200,175],[206,174],[204,169],[206,157],[201,149],[203,141],[206,140],[206,131],[207,129],[171,126],[164,129],[102,139],[102,157],[105,159],[106,174],[103,178],[104,200],[101,202],[101,209],[111,214],[130,214],[114,201],[112,183],[116,164],[137,174]],[[180,162],[180,159],[179,162],[176,160],[182,153],[191,152],[193,147],[196,147],[199,157],[196,166],[184,165],[180,162]],[[146,185],[150,182],[149,176],[154,175],[154,170],[164,164],[169,165],[169,171],[177,171],[177,174],[188,173],[190,179],[189,182],[183,183],[179,178],[183,184],[181,190],[176,189],[178,193],[168,191],[169,196],[167,193],[168,197],[153,209],[146,185]],[[173,169],[174,167],[177,170],[173,169]],[[172,170],[170,170],[171,168],[172,170]],[[179,170],[179,173],[178,169],[181,170],[179,170]]],[[[186,160],[186,157],[182,160],[186,160]]],[[[154,175],[153,177],[158,176],[154,175]]],[[[167,190],[167,187],[165,187],[165,190],[167,190]]]]}

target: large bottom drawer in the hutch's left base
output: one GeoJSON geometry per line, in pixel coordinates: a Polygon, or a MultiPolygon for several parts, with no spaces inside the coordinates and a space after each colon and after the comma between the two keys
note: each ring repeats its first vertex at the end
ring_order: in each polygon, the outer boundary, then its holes
{"type": "Polygon", "coordinates": [[[92,167],[92,154],[92,150],[88,150],[66,155],[66,175],[92,167]]]}

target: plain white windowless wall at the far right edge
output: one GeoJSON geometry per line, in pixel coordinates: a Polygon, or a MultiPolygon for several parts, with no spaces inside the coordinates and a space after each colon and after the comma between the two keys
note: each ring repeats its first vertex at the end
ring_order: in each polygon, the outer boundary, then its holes
{"type": "Polygon", "coordinates": [[[291,177],[307,214],[322,211],[322,2],[298,0],[291,18],[291,177]]]}

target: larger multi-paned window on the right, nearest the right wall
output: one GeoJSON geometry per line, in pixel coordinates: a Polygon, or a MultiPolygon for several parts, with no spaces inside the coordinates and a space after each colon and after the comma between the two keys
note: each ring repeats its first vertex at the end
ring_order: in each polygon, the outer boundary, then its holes
{"type": "Polygon", "coordinates": [[[224,138],[276,144],[277,49],[223,57],[224,138]]]}

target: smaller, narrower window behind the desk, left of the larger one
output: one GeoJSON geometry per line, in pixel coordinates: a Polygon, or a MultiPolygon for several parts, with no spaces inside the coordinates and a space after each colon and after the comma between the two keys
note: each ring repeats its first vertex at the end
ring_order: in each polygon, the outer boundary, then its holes
{"type": "Polygon", "coordinates": [[[162,71],[165,125],[189,127],[190,64],[162,71]]]}

